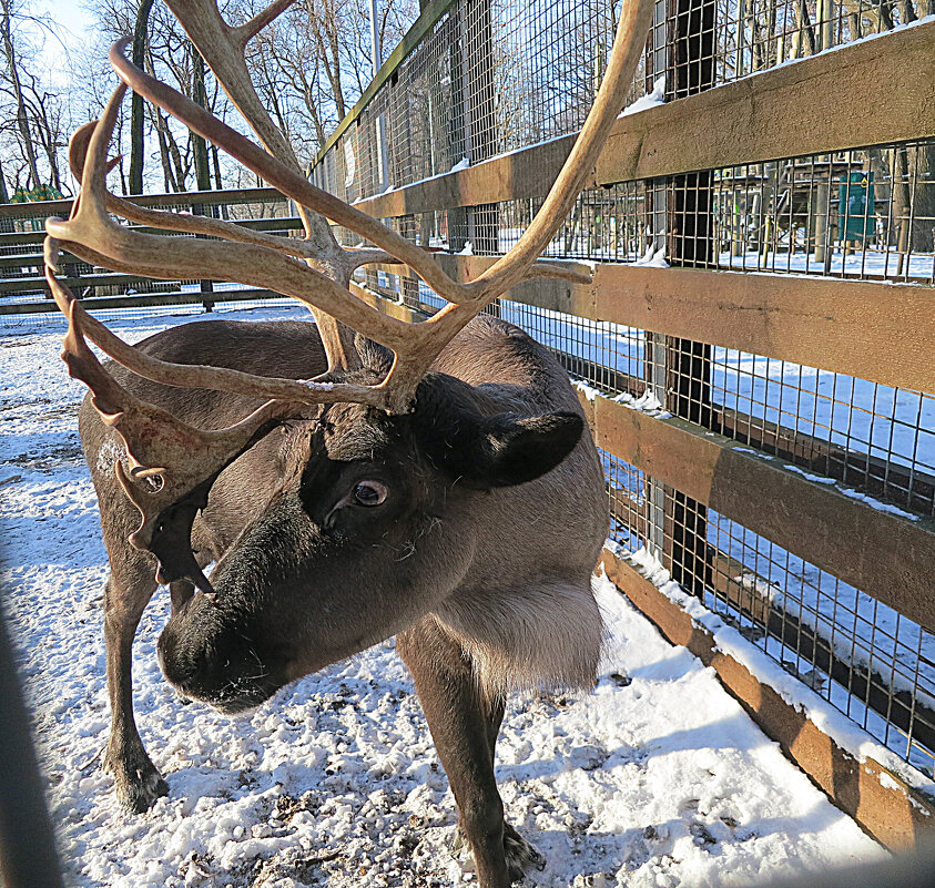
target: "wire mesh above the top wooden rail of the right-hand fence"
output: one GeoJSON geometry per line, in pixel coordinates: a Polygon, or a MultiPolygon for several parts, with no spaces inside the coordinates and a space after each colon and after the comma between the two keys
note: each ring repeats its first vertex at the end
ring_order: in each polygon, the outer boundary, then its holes
{"type": "MultiPolygon", "coordinates": [[[[657,6],[629,101],[660,79],[665,99],[679,99],[925,13],[912,0],[691,0],[668,14],[657,6]],[[689,28],[695,38],[678,45],[689,28]]],[[[575,132],[618,12],[612,0],[458,0],[327,152],[321,184],[355,201],[575,132]]]]}

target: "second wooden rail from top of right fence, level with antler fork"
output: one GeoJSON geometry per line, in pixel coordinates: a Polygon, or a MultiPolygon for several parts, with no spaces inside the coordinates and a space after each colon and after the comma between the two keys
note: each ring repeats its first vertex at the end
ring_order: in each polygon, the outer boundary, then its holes
{"type": "MultiPolygon", "coordinates": [[[[435,258],[449,274],[468,280],[498,257],[435,258]]],[[[586,268],[570,264],[576,266],[586,268]]],[[[887,386],[935,391],[935,287],[607,264],[596,266],[590,285],[533,280],[516,287],[508,298],[887,386]]]]}

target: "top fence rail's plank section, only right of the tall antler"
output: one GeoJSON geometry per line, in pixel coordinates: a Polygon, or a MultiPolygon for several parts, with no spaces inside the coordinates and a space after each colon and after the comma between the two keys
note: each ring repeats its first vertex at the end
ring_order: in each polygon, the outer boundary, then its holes
{"type": "Polygon", "coordinates": [[[597,182],[935,135],[933,47],[935,21],[624,118],[601,152],[597,182]]]}

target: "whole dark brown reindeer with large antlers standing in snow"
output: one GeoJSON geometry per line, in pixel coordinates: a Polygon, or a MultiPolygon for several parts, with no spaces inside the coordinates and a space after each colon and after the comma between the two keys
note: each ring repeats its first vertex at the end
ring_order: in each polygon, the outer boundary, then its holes
{"type": "Polygon", "coordinates": [[[651,3],[626,4],[604,83],[539,214],[509,254],[460,284],[301,175],[243,55],[291,2],[231,28],[211,0],[169,0],[267,151],[136,69],[120,41],[110,58],[122,83],[70,144],[81,195],[68,221],[45,226],[45,275],[69,319],[62,357],[90,389],[79,425],[111,568],[104,766],[135,812],[167,792],[136,731],[130,682],[131,643],[159,583],[172,600],[163,673],[225,713],[395,635],[479,884],[501,888],[538,860],[505,823],[494,777],[506,695],[593,684],[602,624],[590,574],[608,508],[565,371],[481,312],[532,276],[588,279],[537,257],[623,104],[651,3]],[[108,145],[128,86],[293,200],[305,238],[110,194],[108,145]],[[111,214],[221,239],[166,239],[111,214]],[[324,217],[374,246],[341,249],[324,217]],[[114,271],[268,286],[308,306],[316,323],[205,321],[131,347],[60,284],[60,247],[114,271]],[[374,262],[408,265],[448,305],[420,324],[372,308],[349,279],[374,262]]]}

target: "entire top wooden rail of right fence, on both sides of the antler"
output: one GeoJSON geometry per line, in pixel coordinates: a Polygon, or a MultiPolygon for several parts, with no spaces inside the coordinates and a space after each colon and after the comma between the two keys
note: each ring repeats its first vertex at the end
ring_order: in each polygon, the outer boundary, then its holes
{"type": "MultiPolygon", "coordinates": [[[[621,118],[590,185],[935,135],[935,21],[621,118]],[[867,113],[867,108],[873,113],[867,113]]],[[[403,216],[542,196],[576,134],[357,203],[403,216]]]]}

